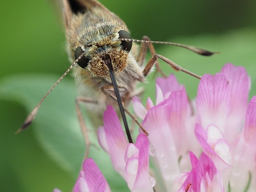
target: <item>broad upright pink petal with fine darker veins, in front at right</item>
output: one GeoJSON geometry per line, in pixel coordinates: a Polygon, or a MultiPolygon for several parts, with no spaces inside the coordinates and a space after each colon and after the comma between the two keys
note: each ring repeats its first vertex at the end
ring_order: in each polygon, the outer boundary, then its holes
{"type": "Polygon", "coordinates": [[[198,85],[196,108],[201,125],[215,124],[222,132],[231,110],[228,81],[223,73],[204,75],[198,85]]]}

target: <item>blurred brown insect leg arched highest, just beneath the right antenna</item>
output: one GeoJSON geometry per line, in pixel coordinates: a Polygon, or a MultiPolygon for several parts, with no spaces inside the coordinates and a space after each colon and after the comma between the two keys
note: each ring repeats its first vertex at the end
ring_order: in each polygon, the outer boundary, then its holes
{"type": "MultiPolygon", "coordinates": [[[[150,41],[148,36],[143,36],[142,40],[150,41]]],[[[156,54],[155,48],[152,43],[146,43],[142,42],[140,44],[140,53],[137,58],[137,62],[140,66],[143,65],[143,62],[145,60],[146,54],[147,54],[147,48],[149,49],[150,54],[153,56],[156,54]]],[[[156,60],[156,71],[159,72],[162,76],[167,77],[164,72],[161,70],[158,61],[156,60]]]]}

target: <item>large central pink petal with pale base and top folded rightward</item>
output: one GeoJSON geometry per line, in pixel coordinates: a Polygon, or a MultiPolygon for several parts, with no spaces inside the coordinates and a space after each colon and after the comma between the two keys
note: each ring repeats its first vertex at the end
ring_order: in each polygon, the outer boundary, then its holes
{"type": "Polygon", "coordinates": [[[151,156],[156,158],[166,188],[170,190],[172,181],[180,174],[179,157],[168,120],[172,106],[172,97],[162,101],[148,111],[142,123],[149,133],[151,156]]]}

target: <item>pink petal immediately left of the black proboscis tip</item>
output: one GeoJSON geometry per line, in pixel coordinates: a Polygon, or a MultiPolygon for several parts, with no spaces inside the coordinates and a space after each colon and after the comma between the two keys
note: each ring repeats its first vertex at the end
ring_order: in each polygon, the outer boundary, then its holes
{"type": "Polygon", "coordinates": [[[115,170],[124,177],[124,154],[128,141],[121,127],[120,121],[112,106],[108,106],[103,115],[104,127],[98,130],[98,140],[102,148],[106,149],[115,170]]]}

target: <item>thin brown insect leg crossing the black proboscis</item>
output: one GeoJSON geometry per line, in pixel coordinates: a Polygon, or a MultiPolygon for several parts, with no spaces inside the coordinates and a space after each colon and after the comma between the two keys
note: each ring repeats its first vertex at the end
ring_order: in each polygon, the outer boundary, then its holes
{"type": "MultiPolygon", "coordinates": [[[[119,88],[119,91],[122,92],[122,89],[124,89],[124,88],[120,87],[120,88],[119,88]]],[[[116,105],[118,105],[118,102],[117,102],[116,97],[113,96],[113,95],[111,95],[111,94],[109,93],[109,91],[113,91],[113,90],[114,90],[113,86],[101,87],[101,91],[108,97],[108,99],[111,100],[111,101],[113,101],[114,103],[116,103],[116,105]]],[[[122,104],[123,104],[123,107],[124,107],[124,103],[123,103],[123,102],[122,102],[122,104]]],[[[148,132],[142,127],[142,125],[140,124],[140,122],[131,114],[131,112],[130,112],[127,108],[125,108],[125,107],[124,107],[124,111],[126,112],[127,115],[129,115],[129,116],[132,118],[132,120],[133,120],[137,125],[139,125],[140,129],[141,129],[146,135],[148,135],[148,132]]]]}

